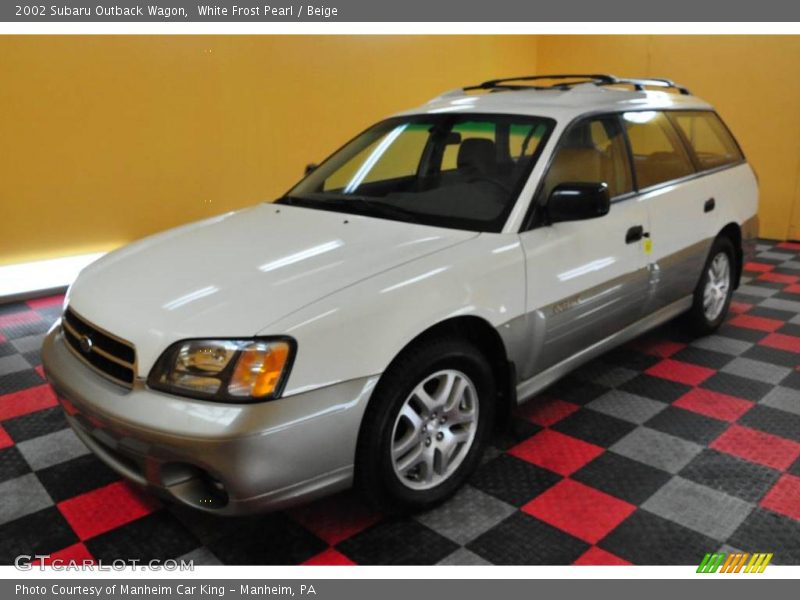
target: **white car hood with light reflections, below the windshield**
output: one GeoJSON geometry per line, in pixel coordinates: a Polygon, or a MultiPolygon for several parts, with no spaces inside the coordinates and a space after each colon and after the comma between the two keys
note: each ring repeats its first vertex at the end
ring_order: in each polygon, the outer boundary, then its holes
{"type": "Polygon", "coordinates": [[[476,235],[262,204],[106,255],[84,269],[67,302],[134,343],[144,370],[174,341],[253,336],[328,294],[476,235]]]}

